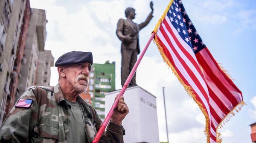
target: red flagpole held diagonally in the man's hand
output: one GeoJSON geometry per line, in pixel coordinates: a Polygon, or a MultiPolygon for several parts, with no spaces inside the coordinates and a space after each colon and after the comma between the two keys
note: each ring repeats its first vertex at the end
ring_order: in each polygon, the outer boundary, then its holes
{"type": "Polygon", "coordinates": [[[129,83],[130,83],[132,77],[134,76],[134,73],[136,72],[137,67],[139,66],[140,61],[141,61],[141,59],[143,58],[143,56],[144,56],[146,50],[148,49],[148,46],[149,46],[150,42],[152,41],[154,35],[155,35],[155,33],[153,32],[153,33],[151,34],[149,40],[148,40],[148,43],[146,44],[146,46],[145,46],[145,48],[144,48],[144,50],[143,50],[143,52],[141,53],[139,59],[138,59],[137,62],[134,64],[134,67],[132,68],[131,73],[129,74],[128,78],[126,79],[125,84],[123,85],[123,87],[122,87],[120,93],[118,94],[118,96],[117,96],[117,98],[116,98],[114,104],[112,105],[110,111],[108,112],[107,117],[106,117],[105,120],[103,121],[102,126],[99,128],[99,130],[98,130],[98,132],[97,132],[97,134],[96,134],[96,137],[94,138],[94,140],[93,140],[92,143],[98,143],[98,142],[99,142],[99,140],[100,140],[102,134],[104,133],[104,131],[105,131],[105,129],[106,129],[106,126],[108,125],[108,123],[109,123],[109,121],[110,121],[110,119],[111,119],[111,116],[113,115],[113,113],[114,113],[114,111],[115,111],[115,109],[116,109],[116,106],[117,106],[117,104],[118,104],[118,101],[119,101],[120,96],[122,96],[122,95],[125,93],[125,90],[126,90],[126,88],[128,87],[128,85],[129,85],[129,83]]]}

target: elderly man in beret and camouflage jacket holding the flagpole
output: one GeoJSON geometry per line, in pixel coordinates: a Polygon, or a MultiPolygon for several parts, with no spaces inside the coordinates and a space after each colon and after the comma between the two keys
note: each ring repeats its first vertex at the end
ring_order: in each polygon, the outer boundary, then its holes
{"type": "MultiPolygon", "coordinates": [[[[91,143],[102,121],[80,96],[87,90],[93,56],[72,51],[56,62],[55,87],[30,87],[17,101],[0,130],[1,143],[91,143]]],[[[129,109],[124,98],[100,143],[123,143],[121,123],[129,109]]]]}

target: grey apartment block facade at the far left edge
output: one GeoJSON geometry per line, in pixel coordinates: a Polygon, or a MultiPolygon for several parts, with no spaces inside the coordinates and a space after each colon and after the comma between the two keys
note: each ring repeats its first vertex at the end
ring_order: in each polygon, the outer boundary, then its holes
{"type": "Polygon", "coordinates": [[[10,96],[12,69],[23,23],[26,0],[0,1],[0,123],[10,96]]]}

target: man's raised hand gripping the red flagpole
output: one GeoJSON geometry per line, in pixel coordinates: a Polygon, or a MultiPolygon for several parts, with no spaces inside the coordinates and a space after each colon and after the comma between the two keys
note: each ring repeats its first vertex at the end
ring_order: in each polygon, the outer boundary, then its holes
{"type": "MultiPolygon", "coordinates": [[[[115,100],[116,100],[116,98],[115,98],[115,100]]],[[[116,110],[114,111],[114,113],[111,117],[111,122],[115,123],[116,125],[121,126],[122,120],[125,118],[125,116],[128,114],[128,112],[129,112],[129,108],[125,103],[125,99],[123,96],[120,96],[116,110]]]]}

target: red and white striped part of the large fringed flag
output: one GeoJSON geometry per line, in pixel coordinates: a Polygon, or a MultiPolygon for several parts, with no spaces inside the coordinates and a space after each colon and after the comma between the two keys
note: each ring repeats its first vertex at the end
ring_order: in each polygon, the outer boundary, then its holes
{"type": "Polygon", "coordinates": [[[209,142],[215,143],[216,129],[226,115],[242,101],[241,91],[220,69],[207,48],[196,54],[193,52],[167,16],[155,38],[180,79],[192,87],[195,100],[207,112],[209,142]]]}

